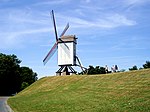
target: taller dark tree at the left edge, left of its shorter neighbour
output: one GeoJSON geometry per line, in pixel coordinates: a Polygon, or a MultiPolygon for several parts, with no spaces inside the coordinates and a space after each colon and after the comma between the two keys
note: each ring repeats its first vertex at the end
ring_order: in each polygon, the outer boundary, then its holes
{"type": "Polygon", "coordinates": [[[0,95],[10,95],[19,91],[20,63],[21,60],[16,55],[0,53],[0,95]]]}

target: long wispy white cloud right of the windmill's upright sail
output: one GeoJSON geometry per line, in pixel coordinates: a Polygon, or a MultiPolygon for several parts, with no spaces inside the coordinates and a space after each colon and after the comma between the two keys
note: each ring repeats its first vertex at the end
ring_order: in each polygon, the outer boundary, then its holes
{"type": "Polygon", "coordinates": [[[94,20],[86,20],[79,17],[69,17],[59,15],[60,19],[64,19],[73,24],[72,27],[78,28],[89,28],[89,27],[99,27],[99,28],[116,28],[120,26],[133,26],[136,25],[136,21],[128,19],[124,15],[111,14],[105,17],[98,17],[94,20]]]}

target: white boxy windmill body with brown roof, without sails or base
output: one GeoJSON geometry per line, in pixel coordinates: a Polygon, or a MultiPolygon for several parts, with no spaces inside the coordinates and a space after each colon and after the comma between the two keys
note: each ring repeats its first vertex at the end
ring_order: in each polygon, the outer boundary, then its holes
{"type": "Polygon", "coordinates": [[[58,65],[76,65],[76,37],[75,35],[62,36],[58,41],[58,65]]]}

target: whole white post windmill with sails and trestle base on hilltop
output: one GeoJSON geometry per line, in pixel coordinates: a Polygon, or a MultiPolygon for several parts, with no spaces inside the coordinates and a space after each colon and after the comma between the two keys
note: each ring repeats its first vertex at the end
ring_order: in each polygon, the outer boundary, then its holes
{"type": "Polygon", "coordinates": [[[75,35],[67,35],[65,36],[65,32],[69,28],[69,23],[67,23],[65,29],[61,33],[58,38],[56,22],[54,11],[51,12],[52,21],[54,26],[54,33],[56,42],[48,52],[46,57],[43,60],[44,65],[49,61],[49,59],[53,56],[53,54],[58,50],[58,66],[60,69],[56,72],[56,75],[70,75],[70,73],[76,74],[76,71],[72,68],[72,66],[80,66],[82,71],[85,69],[82,67],[79,58],[76,56],[76,44],[77,38],[75,35]],[[77,65],[76,61],[78,61],[79,65],[77,65]]]}

